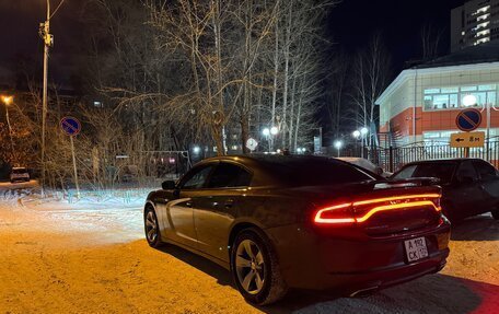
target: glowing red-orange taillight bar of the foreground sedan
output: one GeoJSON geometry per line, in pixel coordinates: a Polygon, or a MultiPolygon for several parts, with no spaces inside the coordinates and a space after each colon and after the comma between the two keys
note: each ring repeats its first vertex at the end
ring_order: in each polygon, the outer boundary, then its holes
{"type": "Polygon", "coordinates": [[[322,208],[315,212],[316,224],[363,223],[379,212],[428,208],[441,211],[440,194],[404,195],[344,202],[322,208]]]}

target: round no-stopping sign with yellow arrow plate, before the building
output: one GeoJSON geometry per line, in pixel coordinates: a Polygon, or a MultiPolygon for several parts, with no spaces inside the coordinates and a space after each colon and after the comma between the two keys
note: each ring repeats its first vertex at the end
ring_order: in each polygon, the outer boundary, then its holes
{"type": "Polygon", "coordinates": [[[451,135],[451,148],[464,148],[464,156],[469,158],[469,148],[483,148],[485,132],[472,132],[481,123],[481,113],[477,109],[464,109],[457,114],[455,125],[464,132],[451,135]]]}

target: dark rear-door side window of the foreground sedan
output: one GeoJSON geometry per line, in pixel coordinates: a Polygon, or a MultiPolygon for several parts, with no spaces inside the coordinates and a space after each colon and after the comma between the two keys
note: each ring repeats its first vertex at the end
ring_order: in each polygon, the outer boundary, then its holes
{"type": "Polygon", "coordinates": [[[248,186],[252,175],[243,167],[220,163],[208,182],[208,188],[248,186]]]}

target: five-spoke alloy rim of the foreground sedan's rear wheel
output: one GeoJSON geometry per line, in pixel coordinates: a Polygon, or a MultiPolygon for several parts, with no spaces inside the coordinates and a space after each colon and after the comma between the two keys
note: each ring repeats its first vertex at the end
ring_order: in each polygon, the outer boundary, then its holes
{"type": "Polygon", "coordinates": [[[235,271],[241,287],[250,293],[257,294],[265,283],[266,266],[258,245],[251,240],[243,240],[235,252],[235,271]]]}

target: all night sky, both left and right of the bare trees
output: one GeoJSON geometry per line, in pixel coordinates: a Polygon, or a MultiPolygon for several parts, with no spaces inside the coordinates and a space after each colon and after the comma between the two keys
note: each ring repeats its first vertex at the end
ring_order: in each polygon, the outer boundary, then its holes
{"type": "MultiPolygon", "coordinates": [[[[53,7],[58,2],[51,0],[53,7]]],[[[65,78],[62,73],[71,68],[72,56],[79,54],[78,42],[83,30],[77,21],[81,19],[79,14],[84,2],[66,0],[51,22],[55,35],[50,65],[53,78],[65,78]]],[[[450,10],[463,2],[345,0],[329,14],[326,31],[337,45],[350,53],[362,49],[373,32],[382,32],[394,60],[393,72],[397,74],[405,61],[420,57],[419,34],[426,21],[443,30],[441,53],[449,50],[450,10]]],[[[45,0],[0,0],[0,84],[5,83],[7,69],[12,69],[20,56],[42,67],[43,44],[37,30],[45,19],[45,0]]]]}

